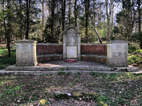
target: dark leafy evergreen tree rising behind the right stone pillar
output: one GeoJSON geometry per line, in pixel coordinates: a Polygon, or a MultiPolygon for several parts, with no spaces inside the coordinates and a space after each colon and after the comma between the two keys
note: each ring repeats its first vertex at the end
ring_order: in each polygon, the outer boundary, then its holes
{"type": "Polygon", "coordinates": [[[123,10],[116,16],[119,33],[127,40],[133,33],[134,24],[136,22],[136,9],[134,0],[123,1],[123,10]]]}

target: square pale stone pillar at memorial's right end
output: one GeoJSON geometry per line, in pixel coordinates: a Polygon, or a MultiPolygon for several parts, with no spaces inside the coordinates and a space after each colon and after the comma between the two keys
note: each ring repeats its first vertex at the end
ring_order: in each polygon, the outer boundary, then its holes
{"type": "Polygon", "coordinates": [[[107,65],[113,67],[127,67],[128,42],[108,41],[107,42],[107,65]]]}

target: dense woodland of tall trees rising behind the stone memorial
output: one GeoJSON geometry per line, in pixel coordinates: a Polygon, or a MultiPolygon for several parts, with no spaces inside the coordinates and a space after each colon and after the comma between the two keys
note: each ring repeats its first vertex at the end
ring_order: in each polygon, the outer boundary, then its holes
{"type": "Polygon", "coordinates": [[[126,40],[142,49],[141,11],[141,0],[1,0],[0,43],[10,57],[15,40],[62,43],[74,26],[82,43],[126,40]]]}

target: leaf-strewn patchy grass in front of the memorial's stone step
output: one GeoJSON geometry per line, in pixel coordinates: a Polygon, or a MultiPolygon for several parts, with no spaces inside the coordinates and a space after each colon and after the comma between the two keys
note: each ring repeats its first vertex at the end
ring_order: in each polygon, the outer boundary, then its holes
{"type": "Polygon", "coordinates": [[[26,105],[45,97],[52,98],[55,91],[80,89],[97,92],[99,100],[110,106],[141,106],[142,75],[99,74],[1,76],[0,105],[26,105]]]}

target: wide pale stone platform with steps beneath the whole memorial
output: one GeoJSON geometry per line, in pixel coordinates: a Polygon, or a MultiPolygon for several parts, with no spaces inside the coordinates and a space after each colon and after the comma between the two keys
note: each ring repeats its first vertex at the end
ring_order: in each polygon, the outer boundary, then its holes
{"type": "Polygon", "coordinates": [[[9,66],[6,71],[112,71],[112,72],[136,72],[139,71],[137,67],[108,67],[104,64],[78,61],[74,63],[66,63],[64,61],[51,61],[45,64],[38,64],[38,66],[9,66]]]}

